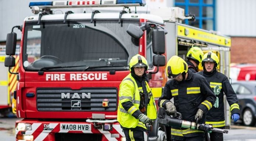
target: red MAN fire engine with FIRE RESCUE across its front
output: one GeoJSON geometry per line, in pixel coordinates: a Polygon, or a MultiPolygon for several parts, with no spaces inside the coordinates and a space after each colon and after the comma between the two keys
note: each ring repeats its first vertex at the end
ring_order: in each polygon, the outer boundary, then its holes
{"type": "MultiPolygon", "coordinates": [[[[175,16],[182,15],[175,12],[175,8],[170,13],[173,18],[164,19],[166,21],[161,17],[163,13],[137,14],[125,8],[114,13],[93,10],[56,14],[53,11],[55,8],[143,5],[143,0],[29,4],[32,12],[39,15],[28,16],[22,26],[15,26],[22,29],[15,98],[17,116],[24,118],[16,123],[16,140],[124,141],[124,133],[116,120],[118,90],[129,73],[132,56],[139,53],[146,57],[150,87],[157,103],[167,81],[164,66],[171,56],[184,57],[193,45],[227,54],[219,48],[230,47],[228,37],[179,23],[193,18],[185,17],[184,12],[182,18],[175,16]]],[[[14,67],[16,42],[16,33],[12,30],[6,42],[7,67],[14,67]]],[[[169,139],[170,129],[158,125],[157,120],[147,140],[169,139]]]]}

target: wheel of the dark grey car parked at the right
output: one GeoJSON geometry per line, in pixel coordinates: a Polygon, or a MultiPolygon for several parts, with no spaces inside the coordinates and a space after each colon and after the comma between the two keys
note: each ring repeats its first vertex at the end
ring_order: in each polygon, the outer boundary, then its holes
{"type": "Polygon", "coordinates": [[[250,110],[249,108],[245,109],[245,111],[243,111],[243,124],[245,126],[254,126],[255,122],[256,120],[252,113],[252,110],[250,110]]]}

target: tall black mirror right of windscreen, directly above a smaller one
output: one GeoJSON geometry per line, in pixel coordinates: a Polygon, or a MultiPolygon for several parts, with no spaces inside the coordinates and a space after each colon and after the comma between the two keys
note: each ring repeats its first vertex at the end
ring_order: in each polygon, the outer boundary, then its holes
{"type": "Polygon", "coordinates": [[[153,30],[152,47],[154,54],[165,53],[165,33],[164,30],[153,30]]]}

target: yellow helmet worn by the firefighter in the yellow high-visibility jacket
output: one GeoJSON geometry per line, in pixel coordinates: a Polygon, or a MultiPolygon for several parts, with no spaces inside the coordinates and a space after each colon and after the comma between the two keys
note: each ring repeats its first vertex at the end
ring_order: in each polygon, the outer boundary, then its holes
{"type": "Polygon", "coordinates": [[[129,70],[131,71],[132,67],[145,67],[147,70],[147,60],[142,55],[136,54],[133,56],[129,63],[129,70]]]}

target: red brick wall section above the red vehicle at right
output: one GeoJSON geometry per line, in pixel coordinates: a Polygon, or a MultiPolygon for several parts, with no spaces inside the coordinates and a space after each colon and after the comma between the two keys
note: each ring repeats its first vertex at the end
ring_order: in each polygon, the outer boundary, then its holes
{"type": "Polygon", "coordinates": [[[256,63],[256,37],[231,37],[231,63],[256,63]]]}

